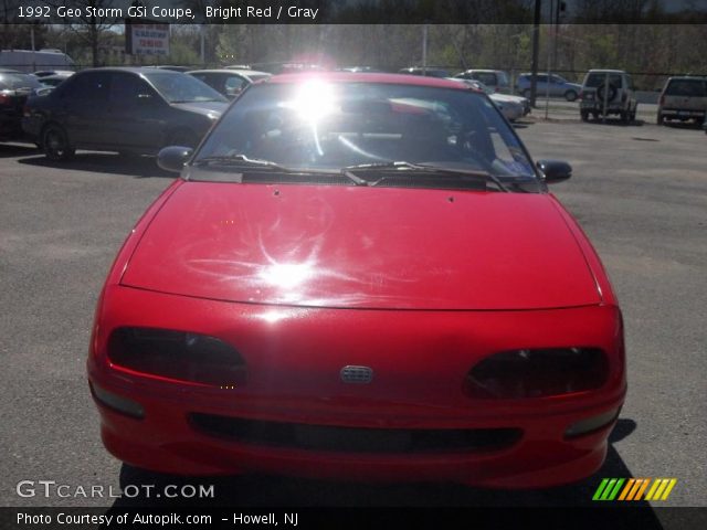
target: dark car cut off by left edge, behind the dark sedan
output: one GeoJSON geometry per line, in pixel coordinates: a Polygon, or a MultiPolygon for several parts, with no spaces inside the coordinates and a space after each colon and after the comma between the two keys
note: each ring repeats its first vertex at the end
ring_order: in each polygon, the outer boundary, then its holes
{"type": "Polygon", "coordinates": [[[0,140],[22,138],[22,107],[39,80],[29,74],[0,68],[0,140]]]}

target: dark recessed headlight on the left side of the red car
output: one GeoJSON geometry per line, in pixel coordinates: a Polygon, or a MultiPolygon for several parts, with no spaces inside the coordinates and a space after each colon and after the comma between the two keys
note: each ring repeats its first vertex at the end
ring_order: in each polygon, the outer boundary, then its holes
{"type": "Polygon", "coordinates": [[[118,328],[108,340],[113,364],[160,378],[211,385],[245,382],[245,362],[215,337],[154,328],[118,328]]]}

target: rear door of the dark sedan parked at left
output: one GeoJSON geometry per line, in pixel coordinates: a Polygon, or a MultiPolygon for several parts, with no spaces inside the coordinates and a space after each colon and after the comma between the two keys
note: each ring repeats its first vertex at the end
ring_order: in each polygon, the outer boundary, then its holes
{"type": "Polygon", "coordinates": [[[74,146],[92,147],[105,141],[108,84],[108,74],[95,71],[76,74],[55,88],[52,117],[66,129],[74,146]]]}

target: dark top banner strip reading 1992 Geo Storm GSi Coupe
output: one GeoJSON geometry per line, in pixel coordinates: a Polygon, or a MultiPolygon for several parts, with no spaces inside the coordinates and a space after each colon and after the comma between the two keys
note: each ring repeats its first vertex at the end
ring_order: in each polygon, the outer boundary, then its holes
{"type": "Polygon", "coordinates": [[[695,24],[707,0],[4,0],[3,23],[695,24]]]}

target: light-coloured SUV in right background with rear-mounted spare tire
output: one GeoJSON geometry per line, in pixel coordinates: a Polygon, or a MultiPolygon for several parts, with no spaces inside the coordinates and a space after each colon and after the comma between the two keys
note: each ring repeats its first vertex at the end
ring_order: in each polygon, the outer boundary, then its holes
{"type": "Polygon", "coordinates": [[[631,75],[622,70],[590,70],[580,93],[579,114],[583,121],[590,116],[618,115],[623,123],[636,118],[639,102],[631,75]]]}

